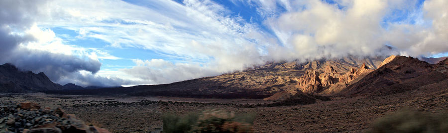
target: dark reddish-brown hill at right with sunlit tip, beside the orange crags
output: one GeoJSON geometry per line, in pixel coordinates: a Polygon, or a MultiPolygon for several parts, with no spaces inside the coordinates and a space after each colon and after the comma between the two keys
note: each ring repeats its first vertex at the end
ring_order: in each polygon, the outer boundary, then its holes
{"type": "Polygon", "coordinates": [[[432,65],[412,57],[390,56],[380,68],[337,95],[385,95],[437,84],[448,79],[447,60],[432,65]]]}

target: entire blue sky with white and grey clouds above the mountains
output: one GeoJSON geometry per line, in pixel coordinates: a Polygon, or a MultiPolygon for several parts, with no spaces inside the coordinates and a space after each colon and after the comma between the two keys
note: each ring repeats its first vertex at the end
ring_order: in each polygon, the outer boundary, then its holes
{"type": "Polygon", "coordinates": [[[272,61],[448,56],[448,0],[0,0],[0,63],[87,86],[272,61]],[[392,48],[388,48],[392,47],[392,48]]]}

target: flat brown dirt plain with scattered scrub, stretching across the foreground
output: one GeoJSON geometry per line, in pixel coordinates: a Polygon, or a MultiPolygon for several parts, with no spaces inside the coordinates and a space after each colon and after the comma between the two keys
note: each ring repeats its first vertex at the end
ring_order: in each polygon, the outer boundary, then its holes
{"type": "Polygon", "coordinates": [[[87,124],[113,133],[158,133],[161,114],[185,114],[207,108],[222,108],[236,113],[256,113],[256,133],[359,133],[385,114],[410,107],[430,113],[448,113],[448,80],[418,90],[383,96],[333,97],[309,105],[265,107],[261,99],[194,99],[173,97],[124,97],[2,94],[1,101],[32,101],[42,106],[63,107],[87,124]],[[171,102],[188,101],[188,102],[171,102]],[[196,101],[195,101],[196,100],[196,101]],[[167,102],[168,101],[168,102],[167,102]],[[246,104],[239,104],[245,102],[246,104]],[[238,104],[236,104],[238,103],[238,104]],[[252,105],[247,105],[252,104],[252,105]],[[257,106],[257,104],[259,106],[257,106]]]}

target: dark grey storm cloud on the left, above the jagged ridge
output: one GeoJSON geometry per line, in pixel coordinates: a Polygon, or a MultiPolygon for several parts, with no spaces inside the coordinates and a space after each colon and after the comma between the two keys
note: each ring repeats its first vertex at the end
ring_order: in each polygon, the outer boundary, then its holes
{"type": "Polygon", "coordinates": [[[0,1],[0,63],[12,63],[19,69],[35,73],[44,72],[56,82],[80,70],[97,73],[101,67],[98,60],[19,46],[36,41],[24,31],[39,17],[40,12],[44,10],[40,7],[45,7],[45,3],[45,0],[0,1]]]}

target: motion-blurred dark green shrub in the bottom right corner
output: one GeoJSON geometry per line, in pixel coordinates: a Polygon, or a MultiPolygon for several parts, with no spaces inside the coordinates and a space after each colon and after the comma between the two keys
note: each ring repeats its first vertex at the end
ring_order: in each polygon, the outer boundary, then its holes
{"type": "Polygon", "coordinates": [[[372,123],[366,133],[448,133],[448,116],[404,109],[372,123]]]}

